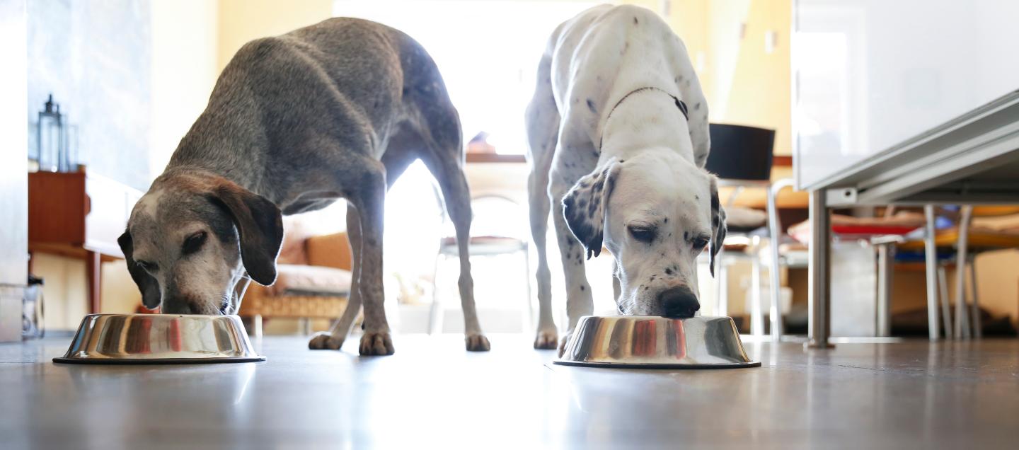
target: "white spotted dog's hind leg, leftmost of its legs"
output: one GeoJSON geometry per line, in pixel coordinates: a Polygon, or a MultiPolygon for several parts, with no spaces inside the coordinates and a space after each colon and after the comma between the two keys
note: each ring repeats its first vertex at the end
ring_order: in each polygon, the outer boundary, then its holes
{"type": "MultiPolygon", "coordinates": [[[[559,133],[559,113],[552,97],[551,58],[545,55],[538,64],[537,87],[527,107],[527,136],[530,144],[531,173],[527,178],[528,206],[531,213],[531,238],[538,252],[538,330],[534,348],[555,348],[558,334],[552,320],[552,275],[545,252],[548,233],[548,171],[555,154],[559,133]]],[[[530,298],[527,301],[531,301],[530,298]]]]}

